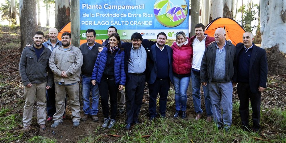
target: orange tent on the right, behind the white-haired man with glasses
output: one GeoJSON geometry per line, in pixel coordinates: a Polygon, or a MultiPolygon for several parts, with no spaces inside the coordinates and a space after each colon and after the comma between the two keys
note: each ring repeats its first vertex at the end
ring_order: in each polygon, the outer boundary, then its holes
{"type": "Polygon", "coordinates": [[[219,27],[225,29],[226,40],[231,39],[233,45],[236,45],[242,41],[242,35],[245,33],[245,30],[233,19],[228,17],[218,17],[214,19],[206,26],[206,31],[209,36],[213,37],[215,30],[219,27]]]}

